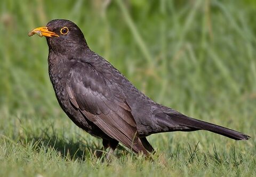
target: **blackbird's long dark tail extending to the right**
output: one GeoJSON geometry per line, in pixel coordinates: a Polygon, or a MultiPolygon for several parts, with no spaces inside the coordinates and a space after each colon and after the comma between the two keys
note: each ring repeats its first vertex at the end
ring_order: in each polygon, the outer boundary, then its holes
{"type": "Polygon", "coordinates": [[[213,123],[193,119],[173,110],[168,113],[156,114],[156,118],[158,125],[167,127],[169,129],[167,131],[207,130],[235,140],[248,140],[251,138],[244,133],[221,127],[213,123]]]}

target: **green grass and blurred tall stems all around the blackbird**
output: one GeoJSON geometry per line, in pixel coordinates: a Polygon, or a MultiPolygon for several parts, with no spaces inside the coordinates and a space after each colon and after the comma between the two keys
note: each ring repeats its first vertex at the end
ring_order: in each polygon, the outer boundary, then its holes
{"type": "Polygon", "coordinates": [[[255,176],[254,1],[2,1],[0,176],[255,176]],[[108,4],[110,3],[110,4],[108,4]],[[156,102],[249,134],[161,133],[153,161],[121,146],[108,165],[100,140],[62,113],[47,74],[51,19],[81,27],[87,43],[156,102]]]}

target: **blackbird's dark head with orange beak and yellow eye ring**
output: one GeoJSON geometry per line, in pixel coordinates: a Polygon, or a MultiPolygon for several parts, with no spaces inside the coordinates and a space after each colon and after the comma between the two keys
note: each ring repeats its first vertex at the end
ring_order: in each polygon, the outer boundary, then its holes
{"type": "Polygon", "coordinates": [[[37,34],[40,37],[45,36],[49,50],[55,53],[78,52],[88,48],[83,32],[77,25],[69,20],[52,20],[45,27],[38,27],[31,30],[28,36],[37,34]]]}

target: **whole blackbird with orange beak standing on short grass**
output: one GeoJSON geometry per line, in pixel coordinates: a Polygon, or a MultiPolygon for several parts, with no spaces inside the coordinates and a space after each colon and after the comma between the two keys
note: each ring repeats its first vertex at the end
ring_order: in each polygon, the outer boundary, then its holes
{"type": "Polygon", "coordinates": [[[149,155],[154,148],[146,137],[160,132],[207,130],[235,140],[250,138],[155,103],[94,53],[69,20],[52,20],[28,35],[35,33],[46,37],[49,75],[60,107],[78,127],[102,138],[110,153],[121,142],[134,153],[149,155]]]}

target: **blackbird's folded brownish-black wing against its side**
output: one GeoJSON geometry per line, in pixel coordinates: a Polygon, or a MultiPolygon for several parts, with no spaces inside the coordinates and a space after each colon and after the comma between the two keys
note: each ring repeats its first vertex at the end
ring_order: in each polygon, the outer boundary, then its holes
{"type": "Polygon", "coordinates": [[[87,119],[126,147],[137,153],[144,151],[131,108],[118,92],[116,83],[110,83],[88,63],[74,65],[69,77],[66,89],[70,102],[87,119]]]}

